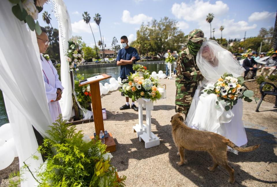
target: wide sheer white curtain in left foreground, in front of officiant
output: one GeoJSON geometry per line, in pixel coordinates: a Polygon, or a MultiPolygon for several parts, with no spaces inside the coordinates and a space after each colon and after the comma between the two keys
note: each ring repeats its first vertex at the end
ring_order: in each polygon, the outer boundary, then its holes
{"type": "MultiPolygon", "coordinates": [[[[11,124],[20,167],[25,161],[31,171],[42,163],[29,159],[38,147],[32,125],[46,136],[45,131],[52,124],[42,67],[24,22],[12,13],[9,1],[0,1],[0,89],[11,124]]],[[[34,34],[34,33],[33,33],[34,34]]],[[[37,47],[36,47],[37,48],[37,47]]],[[[21,186],[35,186],[36,182],[29,172],[21,186]]]]}

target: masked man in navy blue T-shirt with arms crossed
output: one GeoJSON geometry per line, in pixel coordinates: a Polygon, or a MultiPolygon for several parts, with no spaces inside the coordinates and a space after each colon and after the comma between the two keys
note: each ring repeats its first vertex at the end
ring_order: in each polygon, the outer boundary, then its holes
{"type": "MultiPolygon", "coordinates": [[[[120,78],[121,80],[124,80],[127,78],[128,75],[130,75],[130,73],[135,73],[135,71],[133,70],[133,64],[135,64],[136,61],[140,59],[140,57],[136,49],[128,45],[127,36],[122,36],[120,38],[120,42],[123,48],[118,51],[116,61],[117,65],[120,65],[120,78]]],[[[124,96],[122,92],[121,95],[124,96]]],[[[139,108],[136,107],[134,101],[132,101],[131,108],[135,111],[139,111],[139,108]]],[[[129,97],[126,97],[126,104],[119,109],[130,109],[129,97]]]]}

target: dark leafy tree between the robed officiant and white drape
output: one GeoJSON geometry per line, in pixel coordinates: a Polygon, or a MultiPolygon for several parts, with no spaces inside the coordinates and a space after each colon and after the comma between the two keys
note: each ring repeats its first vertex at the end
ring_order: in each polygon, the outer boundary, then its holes
{"type": "Polygon", "coordinates": [[[49,41],[51,42],[45,53],[48,54],[51,59],[60,61],[59,30],[50,26],[46,26],[45,29],[49,41]]]}

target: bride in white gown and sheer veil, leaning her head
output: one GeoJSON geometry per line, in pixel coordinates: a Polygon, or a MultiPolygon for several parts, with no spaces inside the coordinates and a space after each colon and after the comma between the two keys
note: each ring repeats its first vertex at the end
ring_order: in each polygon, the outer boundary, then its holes
{"type": "MultiPolygon", "coordinates": [[[[233,109],[226,111],[224,104],[220,104],[220,108],[216,109],[218,100],[215,94],[204,92],[205,89],[213,89],[214,84],[224,73],[239,77],[245,69],[233,59],[231,52],[213,40],[203,42],[197,53],[196,63],[204,79],[199,82],[195,91],[186,117],[187,126],[215,132],[228,138],[237,146],[246,146],[247,137],[242,123],[242,99],[237,101],[233,109]]],[[[228,147],[228,151],[238,153],[230,147],[228,147]]]]}

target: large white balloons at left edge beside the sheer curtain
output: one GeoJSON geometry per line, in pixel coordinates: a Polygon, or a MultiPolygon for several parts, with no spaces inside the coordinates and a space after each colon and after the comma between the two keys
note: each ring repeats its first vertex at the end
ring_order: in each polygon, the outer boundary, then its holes
{"type": "Polygon", "coordinates": [[[0,170],[8,167],[18,157],[9,123],[0,127],[0,170]]]}

